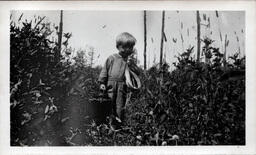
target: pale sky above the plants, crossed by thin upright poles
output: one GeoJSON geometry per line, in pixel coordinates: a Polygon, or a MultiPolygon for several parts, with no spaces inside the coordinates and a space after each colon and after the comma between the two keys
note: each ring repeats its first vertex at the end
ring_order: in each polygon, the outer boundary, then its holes
{"type": "MultiPolygon", "coordinates": [[[[33,19],[34,16],[46,16],[45,21],[59,23],[60,11],[12,11],[12,20],[17,21],[21,13],[22,20],[33,19]]],[[[200,11],[201,23],[208,24],[210,28],[202,25],[201,37],[208,36],[215,40],[214,45],[223,50],[225,34],[228,36],[229,46],[227,54],[231,55],[240,47],[244,55],[244,28],[245,13],[243,11],[220,11],[219,18],[215,11],[200,11]],[[212,34],[211,34],[212,31],[212,34]],[[222,34],[222,43],[220,40],[222,34]],[[239,38],[239,42],[237,41],[239,38]]],[[[161,11],[147,11],[147,53],[148,64],[151,65],[154,57],[159,61],[161,36],[161,11]]],[[[121,32],[129,32],[137,39],[136,48],[138,58],[143,64],[144,26],[143,11],[65,11],[63,12],[63,31],[72,32],[69,45],[75,49],[86,49],[93,46],[96,55],[100,55],[96,65],[104,63],[112,53],[117,52],[115,38],[121,32]]],[[[176,61],[175,55],[189,46],[196,46],[196,12],[195,11],[166,11],[165,34],[167,42],[164,43],[164,53],[169,63],[176,61]],[[184,43],[181,41],[181,34],[184,43]],[[174,40],[177,39],[175,43],[174,40]]],[[[196,49],[196,47],[195,47],[196,49]]]]}

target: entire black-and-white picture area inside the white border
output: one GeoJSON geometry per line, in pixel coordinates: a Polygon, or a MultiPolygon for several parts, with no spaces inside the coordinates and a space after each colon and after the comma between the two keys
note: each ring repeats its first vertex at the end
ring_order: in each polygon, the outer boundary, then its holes
{"type": "Polygon", "coordinates": [[[244,11],[10,12],[11,146],[245,145],[244,11]]]}

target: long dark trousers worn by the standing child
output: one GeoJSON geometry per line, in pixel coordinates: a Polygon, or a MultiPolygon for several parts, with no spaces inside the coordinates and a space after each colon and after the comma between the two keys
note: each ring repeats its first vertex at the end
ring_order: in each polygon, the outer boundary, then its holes
{"type": "Polygon", "coordinates": [[[123,122],[127,86],[125,82],[108,81],[107,87],[110,88],[108,89],[108,96],[112,100],[112,113],[123,122]]]}

